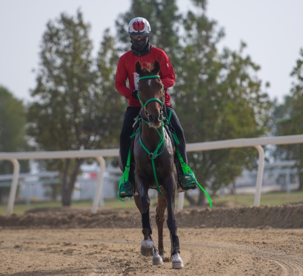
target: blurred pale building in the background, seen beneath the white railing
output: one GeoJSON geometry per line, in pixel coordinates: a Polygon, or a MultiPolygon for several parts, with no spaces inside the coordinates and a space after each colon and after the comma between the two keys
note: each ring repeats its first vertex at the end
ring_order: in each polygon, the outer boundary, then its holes
{"type": "MultiPolygon", "coordinates": [[[[83,164],[81,173],[75,183],[72,200],[93,200],[99,175],[97,163],[83,164]]],[[[102,200],[117,197],[121,171],[117,167],[107,167],[104,175],[102,200]]],[[[6,188],[8,198],[11,186],[12,174],[0,175],[0,189],[6,188]]],[[[244,170],[234,183],[223,187],[218,191],[219,195],[230,194],[254,194],[256,191],[257,170],[244,170]]],[[[59,172],[21,173],[19,178],[16,202],[61,200],[61,183],[59,172]]],[[[273,191],[285,191],[290,193],[299,187],[299,179],[295,161],[283,161],[266,164],[263,174],[262,193],[273,191]]],[[[188,191],[190,195],[198,193],[198,189],[188,191]]],[[[157,191],[150,190],[150,197],[156,197],[157,191]]],[[[2,203],[4,203],[2,196],[2,203]]]]}

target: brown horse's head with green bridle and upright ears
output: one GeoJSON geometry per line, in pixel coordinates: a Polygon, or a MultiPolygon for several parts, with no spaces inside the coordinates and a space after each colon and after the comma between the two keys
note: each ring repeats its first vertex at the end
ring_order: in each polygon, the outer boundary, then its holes
{"type": "Polygon", "coordinates": [[[139,74],[138,98],[143,109],[142,116],[152,127],[160,127],[163,120],[165,91],[159,71],[158,60],[155,60],[155,64],[150,68],[142,68],[140,62],[136,62],[136,72],[139,74]]]}

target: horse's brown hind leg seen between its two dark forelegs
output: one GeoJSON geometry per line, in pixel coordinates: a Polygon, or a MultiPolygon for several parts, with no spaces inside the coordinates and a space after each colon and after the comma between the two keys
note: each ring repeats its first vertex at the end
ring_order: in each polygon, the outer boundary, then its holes
{"type": "Polygon", "coordinates": [[[158,206],[156,209],[156,224],[158,228],[158,249],[160,255],[165,255],[163,245],[163,224],[165,220],[166,197],[163,187],[161,187],[162,196],[158,195],[158,206]]]}

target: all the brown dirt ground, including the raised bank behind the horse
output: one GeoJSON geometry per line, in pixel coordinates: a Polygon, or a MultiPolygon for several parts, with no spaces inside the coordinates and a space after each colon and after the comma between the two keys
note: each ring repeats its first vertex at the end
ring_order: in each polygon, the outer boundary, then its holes
{"type": "MultiPolygon", "coordinates": [[[[154,238],[157,227],[151,209],[154,238]]],[[[0,216],[0,275],[303,275],[303,204],[176,211],[184,268],[140,254],[137,210],[0,216]]],[[[168,228],[164,245],[170,252],[168,228]]]]}

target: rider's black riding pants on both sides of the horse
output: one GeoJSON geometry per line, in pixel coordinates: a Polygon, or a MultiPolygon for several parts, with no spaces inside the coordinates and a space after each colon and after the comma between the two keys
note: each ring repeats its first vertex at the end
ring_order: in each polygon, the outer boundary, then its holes
{"type": "MultiPolygon", "coordinates": [[[[175,133],[176,133],[176,136],[180,142],[180,145],[177,146],[178,150],[180,151],[183,161],[187,164],[186,144],[185,144],[183,128],[180,124],[180,121],[179,121],[177,114],[176,114],[175,110],[173,109],[173,107],[172,106],[165,106],[165,107],[166,107],[167,116],[169,116],[170,112],[172,112],[170,124],[173,129],[171,129],[171,130],[175,131],[175,133]]],[[[121,133],[120,133],[120,156],[121,156],[122,166],[124,169],[126,167],[128,151],[130,148],[130,137],[129,136],[133,132],[132,125],[135,122],[134,118],[139,114],[140,109],[141,109],[140,107],[130,107],[129,106],[129,107],[127,107],[125,114],[124,114],[124,120],[123,120],[122,129],[121,129],[121,133]]],[[[180,167],[180,166],[177,166],[177,171],[178,171],[178,167],[180,167]]],[[[132,166],[130,166],[130,174],[129,174],[130,180],[134,180],[134,179],[131,179],[132,177],[134,177],[133,171],[134,171],[134,168],[132,168],[132,166]]]]}

